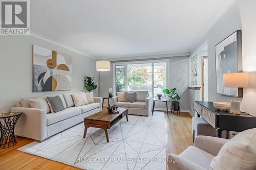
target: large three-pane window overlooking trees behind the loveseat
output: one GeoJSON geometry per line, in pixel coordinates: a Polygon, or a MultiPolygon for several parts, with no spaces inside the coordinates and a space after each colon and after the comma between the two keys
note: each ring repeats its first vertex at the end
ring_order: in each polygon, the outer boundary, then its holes
{"type": "Polygon", "coordinates": [[[167,88],[167,65],[168,60],[113,63],[114,93],[147,90],[157,98],[167,88]]]}

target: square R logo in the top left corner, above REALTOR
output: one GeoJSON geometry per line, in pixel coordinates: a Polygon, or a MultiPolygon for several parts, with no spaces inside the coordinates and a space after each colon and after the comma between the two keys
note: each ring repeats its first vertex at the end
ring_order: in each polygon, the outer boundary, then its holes
{"type": "Polygon", "coordinates": [[[2,28],[27,28],[27,2],[1,2],[2,28]]]}

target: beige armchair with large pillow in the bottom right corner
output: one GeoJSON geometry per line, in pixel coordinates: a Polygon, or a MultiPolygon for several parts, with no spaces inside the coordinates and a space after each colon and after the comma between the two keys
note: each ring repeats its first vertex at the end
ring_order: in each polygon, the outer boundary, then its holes
{"type": "Polygon", "coordinates": [[[180,155],[169,154],[169,170],[256,169],[256,128],[240,132],[230,140],[197,136],[193,146],[180,155]]]}

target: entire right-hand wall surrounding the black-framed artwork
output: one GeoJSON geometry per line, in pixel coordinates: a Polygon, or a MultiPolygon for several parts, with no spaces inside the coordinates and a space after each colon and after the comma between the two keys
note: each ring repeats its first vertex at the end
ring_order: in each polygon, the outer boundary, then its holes
{"type": "MultiPolygon", "coordinates": [[[[256,1],[239,0],[220,18],[214,27],[196,45],[193,52],[208,41],[208,101],[226,101],[232,98],[217,94],[215,45],[236,30],[242,29],[243,71],[250,72],[249,88],[244,88],[241,110],[256,115],[256,1]],[[252,72],[251,72],[252,71],[252,72]],[[210,73],[212,78],[210,78],[210,73]]],[[[198,95],[189,92],[189,104],[198,100],[198,95]]]]}

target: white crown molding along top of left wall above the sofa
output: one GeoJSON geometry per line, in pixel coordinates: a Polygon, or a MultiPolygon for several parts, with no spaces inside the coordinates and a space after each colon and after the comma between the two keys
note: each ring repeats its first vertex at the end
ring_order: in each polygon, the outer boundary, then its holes
{"type": "Polygon", "coordinates": [[[73,52],[75,52],[75,53],[78,53],[78,54],[81,54],[81,55],[83,55],[83,56],[87,56],[87,57],[90,57],[90,58],[96,60],[96,58],[92,57],[91,55],[89,55],[89,54],[87,54],[87,53],[84,53],[83,51],[80,51],[80,50],[78,50],[78,49],[76,49],[76,48],[73,48],[73,47],[71,47],[71,46],[69,46],[69,45],[67,45],[67,44],[63,44],[63,43],[61,43],[61,42],[59,42],[59,41],[55,41],[55,40],[53,40],[53,39],[51,39],[51,38],[49,38],[49,37],[45,37],[45,36],[43,36],[43,35],[37,34],[37,33],[32,32],[32,31],[30,31],[30,36],[33,36],[33,37],[38,38],[38,39],[40,39],[40,40],[47,41],[47,42],[50,42],[50,43],[52,43],[52,44],[61,46],[61,47],[66,48],[66,49],[68,49],[68,50],[70,50],[70,51],[73,51],[73,52]]]}

